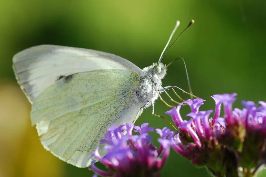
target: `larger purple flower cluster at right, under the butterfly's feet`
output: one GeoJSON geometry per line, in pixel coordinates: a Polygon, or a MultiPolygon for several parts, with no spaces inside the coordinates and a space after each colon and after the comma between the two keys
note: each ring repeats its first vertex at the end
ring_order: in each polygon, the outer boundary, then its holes
{"type": "Polygon", "coordinates": [[[253,176],[266,160],[266,103],[256,106],[243,101],[244,109],[232,109],[236,93],[214,95],[216,107],[199,111],[205,100],[187,100],[167,111],[179,133],[173,136],[174,150],[197,166],[205,166],[215,176],[253,176]],[[189,105],[190,120],[180,116],[189,105]],[[224,115],[220,117],[221,106],[224,115]]]}

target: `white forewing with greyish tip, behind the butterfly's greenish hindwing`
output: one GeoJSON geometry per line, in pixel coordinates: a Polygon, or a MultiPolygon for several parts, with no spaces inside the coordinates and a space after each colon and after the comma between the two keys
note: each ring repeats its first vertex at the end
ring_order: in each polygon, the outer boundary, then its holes
{"type": "Polygon", "coordinates": [[[18,84],[31,103],[60,76],[100,69],[141,72],[138,66],[110,53],[55,45],[34,46],[17,53],[13,68],[18,84]]]}

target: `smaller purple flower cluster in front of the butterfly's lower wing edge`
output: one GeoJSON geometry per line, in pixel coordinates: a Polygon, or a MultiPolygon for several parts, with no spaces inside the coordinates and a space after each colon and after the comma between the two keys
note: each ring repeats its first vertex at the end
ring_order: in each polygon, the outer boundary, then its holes
{"type": "Polygon", "coordinates": [[[134,131],[139,135],[132,135],[134,125],[123,124],[116,128],[112,125],[105,138],[101,140],[105,144],[106,155],[99,154],[99,148],[92,154],[92,157],[106,166],[108,171],[103,171],[96,167],[92,162],[90,169],[95,172],[94,177],[114,176],[114,177],[133,177],[133,176],[154,176],[159,177],[170,153],[170,146],[173,143],[171,137],[174,132],[168,128],[156,129],[161,138],[158,139],[160,147],[157,150],[151,142],[148,132],[154,128],[148,127],[144,123],[134,127],[134,131]],[[161,157],[160,157],[161,156],[161,157]]]}

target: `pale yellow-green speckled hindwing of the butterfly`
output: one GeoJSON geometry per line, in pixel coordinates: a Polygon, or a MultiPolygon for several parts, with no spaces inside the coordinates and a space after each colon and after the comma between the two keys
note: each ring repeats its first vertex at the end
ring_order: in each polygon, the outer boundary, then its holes
{"type": "Polygon", "coordinates": [[[89,166],[107,128],[132,122],[143,106],[133,90],[139,82],[134,71],[118,69],[59,79],[33,101],[31,122],[37,125],[41,143],[72,165],[89,166]]]}

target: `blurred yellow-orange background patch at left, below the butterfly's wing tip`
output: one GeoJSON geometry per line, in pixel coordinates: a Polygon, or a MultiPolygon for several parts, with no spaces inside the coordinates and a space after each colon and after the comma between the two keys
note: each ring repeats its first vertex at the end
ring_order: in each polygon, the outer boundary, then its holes
{"type": "Polygon", "coordinates": [[[30,103],[15,82],[0,81],[0,177],[60,177],[63,163],[31,126],[30,103]]]}

